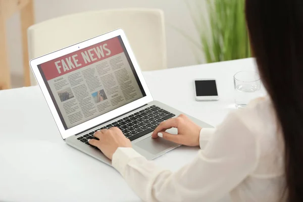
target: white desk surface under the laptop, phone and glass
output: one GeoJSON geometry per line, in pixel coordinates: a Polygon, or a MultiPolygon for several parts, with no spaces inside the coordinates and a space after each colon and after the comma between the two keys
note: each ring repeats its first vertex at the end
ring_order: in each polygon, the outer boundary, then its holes
{"type": "MultiPolygon", "coordinates": [[[[255,70],[254,60],[144,76],[155,99],[218,125],[234,109],[233,75],[242,70],[255,70]],[[196,102],[194,78],[216,78],[220,100],[196,102]]],[[[37,86],[0,91],[0,138],[0,201],[140,201],[116,170],[65,144],[37,86]]],[[[197,150],[182,146],[155,162],[177,170],[197,150]]]]}

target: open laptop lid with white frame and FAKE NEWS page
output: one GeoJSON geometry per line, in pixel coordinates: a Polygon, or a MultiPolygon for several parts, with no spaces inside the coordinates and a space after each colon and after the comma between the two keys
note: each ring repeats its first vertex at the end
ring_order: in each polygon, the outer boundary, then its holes
{"type": "Polygon", "coordinates": [[[30,61],[63,139],[153,100],[122,29],[30,61]]]}

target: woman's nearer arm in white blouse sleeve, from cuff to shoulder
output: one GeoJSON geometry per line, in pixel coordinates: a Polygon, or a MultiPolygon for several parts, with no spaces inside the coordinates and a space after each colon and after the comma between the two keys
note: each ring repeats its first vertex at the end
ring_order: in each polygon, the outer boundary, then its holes
{"type": "MultiPolygon", "coordinates": [[[[212,133],[205,132],[205,137],[212,133]]],[[[201,130],[200,137],[203,135],[201,130]]],[[[118,148],[112,163],[144,201],[169,202],[220,199],[245,179],[257,162],[255,135],[231,114],[213,133],[205,150],[177,172],[158,167],[132,148],[118,148]]]]}

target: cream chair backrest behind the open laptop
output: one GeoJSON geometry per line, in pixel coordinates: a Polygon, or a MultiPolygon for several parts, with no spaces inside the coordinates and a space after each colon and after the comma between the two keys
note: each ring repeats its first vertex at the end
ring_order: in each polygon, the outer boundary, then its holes
{"type": "MultiPolygon", "coordinates": [[[[164,14],[157,9],[91,11],[28,28],[29,59],[122,28],[142,71],[167,68],[164,14]]],[[[36,80],[31,74],[31,85],[36,80]]]]}

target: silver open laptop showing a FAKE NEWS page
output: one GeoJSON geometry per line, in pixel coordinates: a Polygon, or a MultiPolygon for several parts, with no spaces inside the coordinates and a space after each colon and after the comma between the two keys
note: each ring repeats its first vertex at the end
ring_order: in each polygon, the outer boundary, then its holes
{"type": "MultiPolygon", "coordinates": [[[[88,143],[98,130],[120,128],[148,160],[180,146],[150,137],[161,122],[182,112],[153,99],[122,29],[33,59],[30,66],[70,146],[108,165],[111,161],[88,143]]],[[[212,127],[188,117],[201,127],[212,127]]]]}

